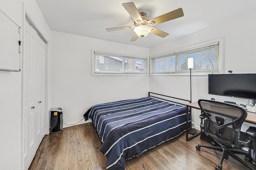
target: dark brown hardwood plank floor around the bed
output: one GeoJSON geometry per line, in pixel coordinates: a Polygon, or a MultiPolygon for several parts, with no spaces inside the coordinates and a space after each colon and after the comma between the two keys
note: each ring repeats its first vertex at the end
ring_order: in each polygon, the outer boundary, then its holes
{"type": "MultiPolygon", "coordinates": [[[[208,145],[199,136],[186,142],[186,134],[183,133],[126,160],[126,170],[214,170],[221,153],[204,148],[198,151],[198,143],[208,145]]],[[[29,169],[106,170],[107,159],[100,152],[100,147],[101,142],[92,123],[64,128],[62,133],[44,137],[29,169]]],[[[223,170],[246,168],[230,157],[224,160],[223,170]]]]}

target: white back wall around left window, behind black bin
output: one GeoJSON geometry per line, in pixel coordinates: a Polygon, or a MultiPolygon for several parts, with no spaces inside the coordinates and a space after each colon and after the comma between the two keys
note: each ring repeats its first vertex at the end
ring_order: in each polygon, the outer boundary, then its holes
{"type": "Polygon", "coordinates": [[[62,108],[64,123],[80,121],[95,104],[147,96],[149,76],[92,76],[91,50],[148,57],[148,48],[57,31],[51,43],[51,108],[62,108]]]}

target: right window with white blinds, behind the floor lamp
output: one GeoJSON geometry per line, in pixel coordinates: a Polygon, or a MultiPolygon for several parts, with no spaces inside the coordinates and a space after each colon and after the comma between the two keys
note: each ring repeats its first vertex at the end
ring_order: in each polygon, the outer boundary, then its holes
{"type": "Polygon", "coordinates": [[[219,42],[190,49],[184,49],[168,55],[152,58],[152,74],[186,73],[188,58],[193,58],[192,72],[219,72],[219,42]]]}

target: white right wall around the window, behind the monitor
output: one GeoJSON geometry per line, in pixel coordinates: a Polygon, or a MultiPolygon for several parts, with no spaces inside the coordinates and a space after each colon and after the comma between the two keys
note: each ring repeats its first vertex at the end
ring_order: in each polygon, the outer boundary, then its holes
{"type": "MultiPolygon", "coordinates": [[[[249,12],[236,18],[218,23],[212,27],[192,33],[180,39],[150,48],[150,56],[170,53],[190,45],[222,39],[222,72],[228,73],[256,73],[256,11],[249,12]]],[[[192,74],[193,75],[193,74],[192,74]]],[[[150,76],[150,91],[165,93],[171,96],[190,99],[189,76],[150,76]]],[[[215,96],[208,94],[208,76],[192,76],[192,102],[198,99],[234,101],[246,104],[248,100],[215,96]]],[[[197,111],[195,111],[198,113],[197,111]]],[[[198,114],[194,114],[192,121],[198,127],[198,114]]],[[[198,127],[199,128],[199,127],[198,127]]]]}

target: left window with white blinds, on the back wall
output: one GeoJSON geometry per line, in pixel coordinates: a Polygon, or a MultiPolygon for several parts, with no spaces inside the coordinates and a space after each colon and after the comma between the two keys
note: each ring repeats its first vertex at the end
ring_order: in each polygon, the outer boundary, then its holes
{"type": "Polygon", "coordinates": [[[93,51],[93,75],[147,74],[148,59],[93,51]]]}

